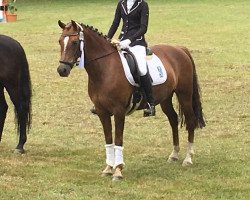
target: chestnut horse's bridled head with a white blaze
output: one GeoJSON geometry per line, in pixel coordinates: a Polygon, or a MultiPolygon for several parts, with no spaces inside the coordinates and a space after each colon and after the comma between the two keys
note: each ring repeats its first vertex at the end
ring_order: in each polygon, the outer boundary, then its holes
{"type": "Polygon", "coordinates": [[[57,68],[57,72],[60,76],[67,77],[81,55],[80,37],[83,34],[83,29],[80,24],[73,20],[67,25],[59,20],[58,25],[63,31],[59,38],[61,59],[59,61],[60,65],[57,68]]]}

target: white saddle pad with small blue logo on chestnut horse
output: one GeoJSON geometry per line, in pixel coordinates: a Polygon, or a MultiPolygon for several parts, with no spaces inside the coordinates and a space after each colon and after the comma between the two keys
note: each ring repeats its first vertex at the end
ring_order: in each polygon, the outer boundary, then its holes
{"type": "MultiPolygon", "coordinates": [[[[131,85],[138,87],[138,84],[135,83],[134,78],[130,72],[127,60],[125,59],[124,55],[121,52],[119,52],[119,55],[121,57],[126,78],[128,79],[131,85]]],[[[149,74],[153,80],[152,85],[159,85],[167,80],[167,73],[165,67],[163,66],[161,60],[155,54],[153,54],[150,59],[147,59],[147,64],[148,64],[149,74]]]]}

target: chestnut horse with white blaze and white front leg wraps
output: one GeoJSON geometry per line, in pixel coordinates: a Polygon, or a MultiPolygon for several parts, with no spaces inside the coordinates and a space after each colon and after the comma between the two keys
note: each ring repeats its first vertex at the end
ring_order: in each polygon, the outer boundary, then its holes
{"type": "MultiPolygon", "coordinates": [[[[85,69],[89,77],[89,97],[103,126],[105,146],[109,147],[106,148],[107,160],[112,161],[111,155],[115,163],[112,165],[107,162],[102,175],[113,174],[114,180],[120,179],[124,164],[122,146],[125,116],[135,87],[126,79],[118,51],[110,39],[97,29],[75,21],[68,24],[59,21],[58,24],[63,31],[59,39],[61,59],[57,71],[60,76],[67,77],[77,59],[84,53],[85,69]],[[80,48],[81,45],[84,49],[80,48]],[[115,122],[114,141],[112,115],[115,122]],[[112,145],[114,150],[110,149],[112,145]]],[[[161,59],[168,74],[166,82],[153,87],[155,103],[160,104],[172,127],[174,148],[168,161],[177,160],[180,149],[178,115],[172,104],[175,93],[179,101],[181,123],[185,124],[188,131],[187,155],[183,161],[183,166],[188,166],[192,164],[194,130],[205,126],[195,64],[184,47],[156,45],[152,47],[152,51],[161,59]]],[[[145,107],[146,101],[143,100],[138,109],[145,107]]]]}

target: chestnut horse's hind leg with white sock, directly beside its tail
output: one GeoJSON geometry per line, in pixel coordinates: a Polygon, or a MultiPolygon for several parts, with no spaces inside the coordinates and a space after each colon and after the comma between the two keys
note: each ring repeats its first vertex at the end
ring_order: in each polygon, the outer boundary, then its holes
{"type": "Polygon", "coordinates": [[[187,154],[182,166],[190,166],[193,164],[192,157],[194,155],[194,129],[195,129],[195,115],[192,107],[192,97],[187,98],[188,95],[178,95],[181,109],[185,116],[186,129],[188,131],[187,154]]]}

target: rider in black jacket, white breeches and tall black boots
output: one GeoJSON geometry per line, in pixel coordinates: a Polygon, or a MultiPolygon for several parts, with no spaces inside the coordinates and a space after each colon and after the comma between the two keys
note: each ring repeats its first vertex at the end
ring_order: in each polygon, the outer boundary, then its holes
{"type": "Polygon", "coordinates": [[[144,34],[147,32],[149,8],[144,0],[120,0],[118,2],[113,23],[109,29],[108,37],[113,38],[120,21],[123,21],[119,36],[120,47],[129,49],[136,57],[141,86],[144,89],[148,108],[144,110],[144,116],[155,115],[154,97],[152,94],[151,78],[146,63],[146,47],[144,34]]]}

